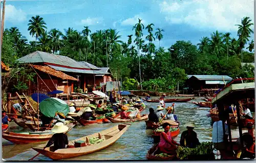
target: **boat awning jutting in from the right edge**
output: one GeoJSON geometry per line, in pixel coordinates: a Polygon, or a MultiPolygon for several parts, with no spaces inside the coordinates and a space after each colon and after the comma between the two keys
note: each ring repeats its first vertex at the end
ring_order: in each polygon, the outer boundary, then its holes
{"type": "Polygon", "coordinates": [[[243,98],[254,97],[255,83],[232,84],[218,93],[212,100],[215,103],[232,103],[243,98]]]}

